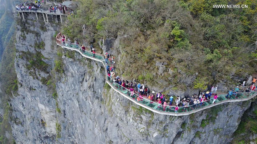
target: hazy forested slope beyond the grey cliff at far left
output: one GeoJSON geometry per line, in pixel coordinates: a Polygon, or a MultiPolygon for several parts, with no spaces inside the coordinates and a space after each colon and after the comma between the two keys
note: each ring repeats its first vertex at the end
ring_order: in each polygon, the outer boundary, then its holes
{"type": "MultiPolygon", "coordinates": [[[[2,91],[0,92],[0,107],[4,110],[3,117],[0,116],[0,143],[15,143],[11,134],[11,125],[9,124],[9,115],[11,115],[12,108],[8,102],[11,97],[16,95],[18,86],[21,85],[17,80],[17,75],[14,68],[16,42],[15,35],[16,34],[14,34],[7,43],[0,62],[0,89],[2,91]],[[7,131],[11,136],[9,139],[5,137],[5,131],[7,131]]],[[[10,119],[12,120],[12,118],[10,119]]]]}

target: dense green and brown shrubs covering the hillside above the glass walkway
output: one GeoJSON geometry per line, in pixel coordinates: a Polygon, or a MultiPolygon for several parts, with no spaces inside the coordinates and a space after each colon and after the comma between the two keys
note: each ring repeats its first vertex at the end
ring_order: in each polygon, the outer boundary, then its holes
{"type": "Polygon", "coordinates": [[[180,79],[198,73],[192,88],[205,89],[256,71],[254,0],[238,2],[248,9],[212,8],[227,0],[78,2],[63,33],[79,41],[95,40],[95,46],[99,38],[120,37],[117,72],[125,79],[161,88],[166,87],[162,81],[181,86],[180,79]],[[83,24],[89,30],[85,35],[83,24]],[[156,61],[167,63],[164,75],[158,75],[156,61]],[[168,67],[174,73],[167,74],[168,67]]]}

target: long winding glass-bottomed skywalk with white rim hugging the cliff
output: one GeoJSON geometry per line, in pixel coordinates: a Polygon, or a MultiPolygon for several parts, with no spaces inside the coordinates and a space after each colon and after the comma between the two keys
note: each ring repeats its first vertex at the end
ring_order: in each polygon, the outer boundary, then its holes
{"type": "Polygon", "coordinates": [[[99,61],[103,64],[103,66],[105,67],[105,76],[106,76],[106,82],[111,86],[112,89],[114,89],[116,92],[119,92],[121,95],[123,95],[124,97],[126,97],[127,99],[129,99],[130,101],[134,102],[135,104],[142,106],[152,112],[158,113],[158,114],[165,114],[165,115],[172,115],[172,116],[183,116],[183,115],[189,115],[192,113],[196,113],[199,112],[201,110],[207,109],[207,108],[211,108],[213,106],[225,103],[225,102],[240,102],[240,101],[246,101],[249,100],[251,98],[253,98],[254,96],[257,95],[256,91],[250,91],[250,92],[240,92],[237,94],[233,94],[232,97],[230,99],[226,98],[226,94],[221,94],[218,96],[218,98],[216,99],[215,103],[213,102],[213,97],[210,98],[209,100],[206,100],[204,102],[202,102],[202,104],[193,104],[187,107],[178,107],[178,112],[175,113],[174,109],[176,106],[167,106],[167,105],[161,105],[158,104],[156,102],[151,102],[148,98],[143,98],[143,96],[139,96],[137,94],[134,94],[133,96],[130,96],[131,91],[128,90],[125,87],[122,87],[121,85],[115,83],[113,81],[113,79],[111,79],[111,77],[109,77],[106,73],[106,64],[105,64],[105,59],[103,57],[103,55],[100,54],[95,54],[95,57],[93,57],[93,53],[89,52],[87,50],[85,50],[85,52],[82,51],[81,47],[77,44],[73,44],[73,43],[69,43],[69,42],[65,42],[65,44],[63,44],[60,40],[62,34],[61,32],[59,34],[57,34],[56,36],[56,44],[61,46],[62,48],[67,48],[70,50],[75,50],[77,52],[79,52],[81,55],[83,55],[84,57],[87,57],[89,59],[93,59],[96,61],[99,61]],[[141,100],[137,101],[135,97],[140,97],[141,100]],[[159,106],[158,106],[159,105],[159,106]]]}

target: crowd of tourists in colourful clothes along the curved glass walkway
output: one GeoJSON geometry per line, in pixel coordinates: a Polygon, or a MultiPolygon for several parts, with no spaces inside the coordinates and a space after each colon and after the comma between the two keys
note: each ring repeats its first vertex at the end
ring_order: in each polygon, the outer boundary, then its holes
{"type": "MultiPolygon", "coordinates": [[[[63,45],[66,46],[69,46],[71,44],[71,40],[69,38],[67,38],[67,42],[69,43],[65,44],[65,36],[62,36],[62,42],[63,45]]],[[[74,44],[76,44],[77,48],[79,48],[79,42],[77,40],[75,40],[74,44]]],[[[81,50],[83,51],[83,53],[85,52],[84,45],[81,45],[81,50]]],[[[93,53],[93,57],[95,57],[96,49],[93,45],[90,46],[90,51],[93,53]]],[[[209,104],[215,103],[218,98],[218,85],[211,87],[209,90],[201,91],[198,95],[194,94],[192,96],[185,96],[182,99],[179,96],[166,96],[161,92],[151,92],[150,89],[146,87],[144,84],[136,83],[136,81],[128,81],[119,77],[115,73],[115,57],[113,55],[106,53],[104,55],[104,59],[106,64],[106,72],[108,75],[107,78],[109,81],[112,79],[116,89],[120,89],[123,91],[128,90],[128,95],[133,99],[136,99],[137,101],[148,99],[151,103],[157,103],[158,108],[162,107],[163,111],[166,111],[166,107],[169,106],[169,109],[174,110],[174,112],[176,113],[178,112],[178,109],[180,109],[181,107],[182,112],[186,112],[186,108],[188,108],[189,106],[192,110],[194,110],[198,107],[201,107],[204,104],[204,102],[209,102],[209,104]],[[213,98],[211,98],[212,96],[213,98]],[[212,101],[210,102],[211,99],[212,101]]],[[[252,85],[249,87],[246,87],[246,81],[244,81],[242,85],[240,84],[236,88],[230,89],[225,97],[227,99],[230,99],[232,96],[238,98],[239,93],[255,91],[256,80],[256,77],[253,78],[252,85]]]]}

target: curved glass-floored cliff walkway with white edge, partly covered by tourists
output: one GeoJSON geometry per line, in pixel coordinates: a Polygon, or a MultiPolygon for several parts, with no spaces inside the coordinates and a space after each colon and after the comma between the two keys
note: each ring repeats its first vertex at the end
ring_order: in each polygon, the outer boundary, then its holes
{"type": "MultiPolygon", "coordinates": [[[[65,36],[62,35],[61,32],[58,33],[56,36],[56,44],[61,46],[62,48],[67,48],[67,49],[78,51],[81,55],[83,55],[84,57],[87,57],[89,59],[93,59],[93,60],[102,62],[105,67],[106,72],[107,72],[107,69],[109,69],[107,67],[107,65],[109,66],[111,62],[108,59],[105,60],[103,55],[96,54],[95,51],[89,52],[88,48],[86,50],[86,48],[84,46],[82,48],[78,44],[74,44],[74,43],[65,41],[65,36]]],[[[116,75],[112,69],[111,69],[111,71],[112,71],[112,75],[109,76],[109,75],[107,75],[108,73],[105,73],[105,75],[106,75],[106,79],[107,79],[106,82],[111,86],[112,89],[119,92],[121,95],[128,98],[129,100],[136,103],[137,105],[140,105],[140,106],[142,106],[148,110],[151,110],[152,112],[156,112],[158,114],[173,115],[173,116],[188,115],[188,114],[199,112],[206,108],[210,108],[210,107],[213,107],[213,106],[225,103],[225,102],[240,102],[240,101],[249,100],[257,95],[255,89],[254,89],[254,91],[249,90],[247,92],[240,92],[240,91],[235,90],[234,92],[230,92],[230,94],[221,94],[216,97],[215,96],[211,97],[212,94],[209,92],[206,92],[205,95],[207,95],[207,94],[210,94],[210,95],[205,96],[206,99],[204,101],[201,101],[201,102],[198,101],[196,104],[193,103],[191,105],[188,104],[186,106],[177,106],[177,105],[176,106],[170,106],[170,105],[168,106],[166,104],[166,102],[165,102],[165,104],[160,104],[160,100],[158,103],[156,103],[153,100],[151,100],[150,98],[144,98],[142,93],[139,94],[139,90],[137,92],[136,90],[133,89],[135,87],[132,88],[132,86],[131,86],[130,87],[131,89],[129,89],[129,87],[125,87],[124,80],[123,80],[124,85],[123,84],[120,85],[119,83],[115,82],[114,76],[116,76],[116,75]]],[[[143,90],[144,90],[144,88],[143,88],[143,90]]],[[[155,92],[152,92],[152,93],[154,94],[155,92]]],[[[195,99],[198,99],[198,98],[196,97],[195,99]]]]}

